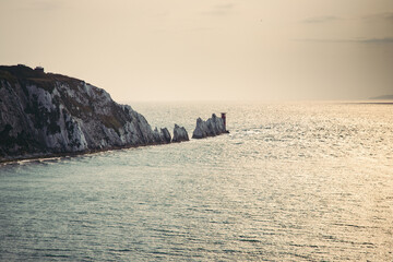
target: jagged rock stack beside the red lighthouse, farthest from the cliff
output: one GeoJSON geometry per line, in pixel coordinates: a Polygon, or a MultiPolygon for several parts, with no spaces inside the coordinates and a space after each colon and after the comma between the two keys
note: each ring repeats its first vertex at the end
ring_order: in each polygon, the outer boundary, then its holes
{"type": "Polygon", "coordinates": [[[207,136],[216,136],[222,133],[228,133],[225,128],[224,119],[218,118],[215,114],[212,118],[203,121],[201,118],[196,119],[196,128],[192,133],[193,139],[204,139],[207,136]]]}

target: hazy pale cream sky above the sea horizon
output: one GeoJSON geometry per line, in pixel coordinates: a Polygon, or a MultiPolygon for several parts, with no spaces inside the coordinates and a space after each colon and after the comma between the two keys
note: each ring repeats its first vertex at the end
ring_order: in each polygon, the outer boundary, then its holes
{"type": "Polygon", "coordinates": [[[0,36],[119,102],[393,94],[392,0],[0,0],[0,36]]]}

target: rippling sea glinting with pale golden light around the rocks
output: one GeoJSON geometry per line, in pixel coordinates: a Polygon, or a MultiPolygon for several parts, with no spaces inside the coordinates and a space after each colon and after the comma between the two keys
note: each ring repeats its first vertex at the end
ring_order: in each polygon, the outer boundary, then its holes
{"type": "Polygon", "coordinates": [[[0,166],[0,261],[393,261],[393,104],[133,103],[229,134],[0,166]]]}

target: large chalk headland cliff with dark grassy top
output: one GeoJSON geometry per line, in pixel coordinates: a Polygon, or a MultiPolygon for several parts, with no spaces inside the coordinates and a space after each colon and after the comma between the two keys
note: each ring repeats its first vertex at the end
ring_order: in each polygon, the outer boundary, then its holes
{"type": "Polygon", "coordinates": [[[170,143],[130,106],[84,81],[0,67],[0,160],[170,143]]]}

